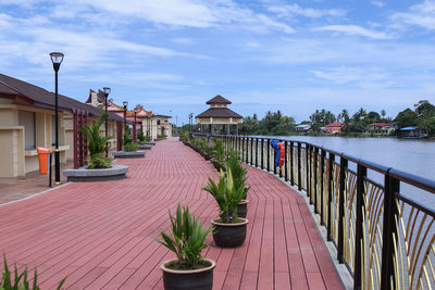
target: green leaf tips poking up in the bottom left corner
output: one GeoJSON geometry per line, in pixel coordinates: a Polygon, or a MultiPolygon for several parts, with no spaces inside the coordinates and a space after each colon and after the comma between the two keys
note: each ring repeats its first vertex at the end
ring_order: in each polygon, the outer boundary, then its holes
{"type": "MultiPolygon", "coordinates": [[[[27,281],[27,267],[23,270],[23,273],[18,275],[18,270],[16,269],[15,265],[14,278],[12,279],[11,270],[8,267],[8,262],[4,254],[3,254],[3,265],[4,265],[4,272],[1,275],[2,279],[0,280],[0,290],[30,290],[30,289],[39,290],[38,274],[36,268],[34,273],[33,286],[30,288],[27,281]]],[[[65,282],[65,279],[66,277],[63,278],[62,281],[60,281],[57,288],[58,290],[62,288],[63,283],[65,282]]]]}

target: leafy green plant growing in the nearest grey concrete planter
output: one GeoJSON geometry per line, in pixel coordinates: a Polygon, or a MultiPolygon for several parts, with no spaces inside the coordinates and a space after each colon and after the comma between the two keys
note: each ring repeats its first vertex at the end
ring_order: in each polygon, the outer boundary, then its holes
{"type": "Polygon", "coordinates": [[[94,123],[79,128],[80,133],[87,139],[87,147],[89,156],[86,159],[88,168],[108,168],[112,164],[112,160],[107,159],[102,152],[104,152],[105,143],[111,136],[103,136],[100,134],[101,125],[107,121],[109,115],[102,113],[101,116],[94,123]],[[101,161],[105,159],[105,161],[101,161]],[[96,165],[96,167],[94,167],[96,165]]]}

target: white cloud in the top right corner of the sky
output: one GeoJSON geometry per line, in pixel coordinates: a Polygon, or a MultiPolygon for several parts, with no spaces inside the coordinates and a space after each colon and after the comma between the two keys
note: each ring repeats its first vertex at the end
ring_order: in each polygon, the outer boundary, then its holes
{"type": "Polygon", "coordinates": [[[412,5],[408,12],[398,12],[391,16],[396,25],[415,25],[425,29],[435,29],[435,1],[426,0],[412,5]]]}

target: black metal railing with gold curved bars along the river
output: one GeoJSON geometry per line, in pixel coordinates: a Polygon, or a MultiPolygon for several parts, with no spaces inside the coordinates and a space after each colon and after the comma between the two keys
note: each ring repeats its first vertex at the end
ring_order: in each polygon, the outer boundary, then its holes
{"type": "Polygon", "coordinates": [[[296,140],[279,140],[285,165],[276,167],[274,138],[212,136],[211,143],[214,139],[239,152],[246,164],[304,190],[355,289],[433,288],[435,212],[409,197],[432,196],[435,181],[296,140]]]}

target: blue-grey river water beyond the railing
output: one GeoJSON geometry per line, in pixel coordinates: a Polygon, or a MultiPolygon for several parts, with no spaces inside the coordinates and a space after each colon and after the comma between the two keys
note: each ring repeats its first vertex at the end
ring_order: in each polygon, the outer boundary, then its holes
{"type": "MultiPolygon", "coordinates": [[[[435,141],[311,136],[279,136],[276,138],[310,142],[325,149],[344,152],[358,159],[435,180],[435,141]]],[[[381,176],[372,176],[371,178],[383,184],[381,176]]],[[[410,187],[403,187],[402,190],[405,191],[405,189],[411,191],[403,192],[405,194],[435,210],[435,194],[421,192],[410,187]]]]}

